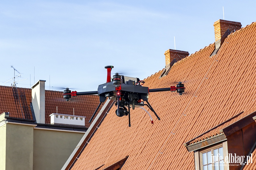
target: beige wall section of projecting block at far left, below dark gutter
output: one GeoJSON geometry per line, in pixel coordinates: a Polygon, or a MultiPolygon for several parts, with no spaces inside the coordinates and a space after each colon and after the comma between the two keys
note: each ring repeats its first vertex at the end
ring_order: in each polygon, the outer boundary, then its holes
{"type": "Polygon", "coordinates": [[[5,169],[33,169],[34,125],[7,123],[5,169]]]}

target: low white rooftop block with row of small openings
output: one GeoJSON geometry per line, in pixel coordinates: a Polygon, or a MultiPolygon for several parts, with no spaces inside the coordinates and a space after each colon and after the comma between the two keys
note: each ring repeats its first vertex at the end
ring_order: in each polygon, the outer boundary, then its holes
{"type": "Polygon", "coordinates": [[[50,114],[51,124],[68,124],[68,125],[79,125],[85,126],[84,116],[75,116],[69,114],[59,114],[52,113],[50,114]]]}

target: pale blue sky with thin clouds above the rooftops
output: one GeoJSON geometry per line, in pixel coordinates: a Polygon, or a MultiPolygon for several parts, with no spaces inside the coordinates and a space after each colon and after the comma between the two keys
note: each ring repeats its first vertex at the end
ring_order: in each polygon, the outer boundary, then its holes
{"type": "Polygon", "coordinates": [[[25,88],[46,80],[46,90],[94,91],[106,82],[106,65],[112,75],[144,79],[165,67],[174,36],[176,50],[189,54],[213,43],[223,6],[225,20],[256,21],[254,1],[2,0],[0,85],[11,85],[11,65],[25,88]]]}

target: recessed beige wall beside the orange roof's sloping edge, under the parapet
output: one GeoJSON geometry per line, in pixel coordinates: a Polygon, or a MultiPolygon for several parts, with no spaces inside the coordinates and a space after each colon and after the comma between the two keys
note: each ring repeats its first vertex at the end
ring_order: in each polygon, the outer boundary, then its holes
{"type": "Polygon", "coordinates": [[[34,128],[33,169],[61,169],[84,133],[34,128]]]}

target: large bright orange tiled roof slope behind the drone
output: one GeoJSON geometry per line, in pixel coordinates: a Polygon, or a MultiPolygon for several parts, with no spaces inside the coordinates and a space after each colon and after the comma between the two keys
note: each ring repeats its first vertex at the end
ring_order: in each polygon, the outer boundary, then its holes
{"type": "MultiPolygon", "coordinates": [[[[129,155],[125,169],[194,169],[193,152],[183,143],[255,105],[256,23],[230,34],[212,58],[214,44],[161,71],[144,86],[166,88],[185,81],[185,94],[150,93],[149,102],[161,118],[154,124],[145,111],[117,117],[113,107],[71,168],[104,169],[129,155]]],[[[144,107],[147,111],[148,108],[144,107]]],[[[149,111],[151,113],[151,111],[149,111]]]]}

